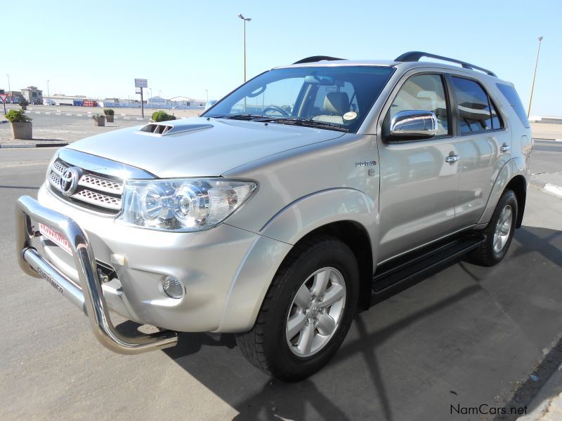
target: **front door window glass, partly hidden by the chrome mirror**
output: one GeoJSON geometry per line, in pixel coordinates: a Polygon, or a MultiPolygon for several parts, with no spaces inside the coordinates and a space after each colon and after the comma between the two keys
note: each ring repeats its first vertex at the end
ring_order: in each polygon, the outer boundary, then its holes
{"type": "Polygon", "coordinates": [[[431,111],[438,121],[437,135],[449,133],[447,101],[443,79],[438,74],[420,74],[405,81],[388,110],[391,121],[400,111],[431,111]]]}

